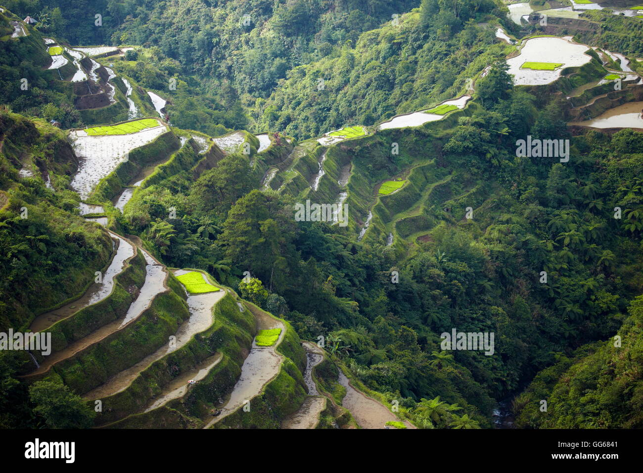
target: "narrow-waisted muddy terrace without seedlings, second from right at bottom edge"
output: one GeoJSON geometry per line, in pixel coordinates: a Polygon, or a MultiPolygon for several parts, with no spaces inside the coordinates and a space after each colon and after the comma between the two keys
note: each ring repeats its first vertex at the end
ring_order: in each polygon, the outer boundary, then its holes
{"type": "Polygon", "coordinates": [[[320,420],[320,413],[326,407],[326,398],[321,396],[317,385],[312,379],[312,368],[323,361],[324,353],[321,348],[311,342],[303,342],[306,350],[306,371],[303,381],[308,387],[308,396],[296,413],[282,421],[282,429],[314,429],[320,420]]]}

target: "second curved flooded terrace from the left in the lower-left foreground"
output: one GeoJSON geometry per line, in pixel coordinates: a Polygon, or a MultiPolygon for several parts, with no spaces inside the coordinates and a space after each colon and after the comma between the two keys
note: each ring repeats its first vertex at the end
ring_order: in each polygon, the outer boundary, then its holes
{"type": "Polygon", "coordinates": [[[150,255],[147,254],[145,250],[141,248],[138,248],[138,250],[143,252],[143,256],[145,257],[145,261],[147,262],[147,266],[145,266],[145,283],[143,283],[143,287],[141,287],[136,300],[129,306],[125,317],[123,319],[114,320],[113,322],[102,326],[101,328],[87,335],[87,337],[83,337],[82,339],[69,344],[66,348],[60,351],[51,353],[51,355],[46,357],[42,364],[37,367],[35,371],[26,376],[45,373],[46,371],[51,369],[52,366],[61,362],[62,360],[73,357],[87,347],[96,344],[97,342],[100,342],[100,340],[105,339],[105,337],[108,337],[114,332],[123,329],[125,326],[138,319],[141,313],[143,313],[143,311],[145,311],[150,306],[150,302],[152,302],[152,299],[154,299],[154,297],[158,293],[165,290],[164,283],[167,272],[165,272],[164,266],[161,266],[154,259],[152,259],[152,257],[150,257],[150,255]]]}

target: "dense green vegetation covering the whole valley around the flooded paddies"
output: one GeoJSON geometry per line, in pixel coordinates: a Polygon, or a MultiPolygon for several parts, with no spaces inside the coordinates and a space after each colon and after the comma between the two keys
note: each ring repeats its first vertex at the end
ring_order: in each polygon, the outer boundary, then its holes
{"type": "MultiPolygon", "coordinates": [[[[494,427],[507,400],[519,428],[643,427],[643,133],[568,126],[643,100],[634,80],[607,88],[613,60],[590,50],[555,82],[514,86],[505,58],[517,46],[496,29],[519,39],[535,26],[512,24],[493,0],[108,0],[95,12],[64,4],[7,0],[0,14],[0,329],[26,331],[77,300],[112,261],[114,234],[136,254],[105,299],[113,320],[86,311],[53,324],[57,350],[125,317],[154,266],[146,269],[143,250],[163,268],[206,272],[225,296],[213,306],[220,320],[189,349],[150,364],[125,394],[104,396],[118,406],[109,420],[93,411],[93,390],[153,355],[193,310],[173,274],[122,338],[94,340],[73,363],[30,379],[31,359],[0,351],[0,427],[203,427],[239,378],[253,317],[264,311],[285,334],[283,369],[262,398],[279,420],[287,409],[273,391],[302,404],[300,341],[322,337],[314,381],[328,403],[318,428],[359,423],[342,407],[340,372],[381,405],[399,403],[399,419],[422,429],[494,427]],[[40,21],[11,38],[25,15],[40,21]],[[77,106],[77,83],[47,69],[50,37],[69,48],[131,48],[93,59],[114,72],[113,102],[77,106]],[[23,77],[27,90],[16,85],[23,77]],[[167,100],[163,134],[132,148],[81,199],[73,179],[87,156],[77,156],[70,129],[131,120],[129,101],[139,117],[158,117],[147,91],[167,100]],[[441,120],[376,126],[463,93],[471,101],[441,120]],[[317,141],[345,125],[365,135],[317,141]],[[226,148],[222,135],[235,130],[239,144],[226,148]],[[253,133],[266,131],[259,152],[253,133]],[[568,162],[518,156],[528,135],[568,140],[568,162]],[[378,193],[392,179],[403,187],[378,193]],[[342,192],[347,227],[293,218],[297,203],[343,202],[342,192]],[[89,216],[114,234],[83,218],[81,201],[100,207],[89,216]],[[444,349],[452,329],[494,333],[494,355],[444,349]],[[130,342],[131,353],[116,349],[130,342]],[[223,361],[194,396],[151,420],[145,405],[132,407],[215,352],[223,361]]],[[[579,28],[575,41],[627,55],[629,72],[642,73],[643,43],[625,33],[637,19],[606,15],[586,14],[579,21],[602,30],[579,28]]],[[[637,28],[630,35],[640,40],[637,28]]],[[[238,415],[225,422],[249,422],[238,415]]]]}

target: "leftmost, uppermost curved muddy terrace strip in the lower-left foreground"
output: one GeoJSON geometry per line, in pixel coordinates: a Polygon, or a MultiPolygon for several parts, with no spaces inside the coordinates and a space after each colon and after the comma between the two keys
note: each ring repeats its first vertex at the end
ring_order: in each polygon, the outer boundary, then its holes
{"type": "Polygon", "coordinates": [[[103,274],[102,283],[93,283],[80,299],[36,317],[30,326],[30,331],[36,332],[48,329],[59,320],[66,319],[79,310],[102,301],[111,294],[114,287],[114,276],[122,272],[125,260],[134,256],[134,247],[130,243],[116,234],[111,233],[111,236],[118,242],[116,243],[118,246],[112,262],[103,274]]]}

